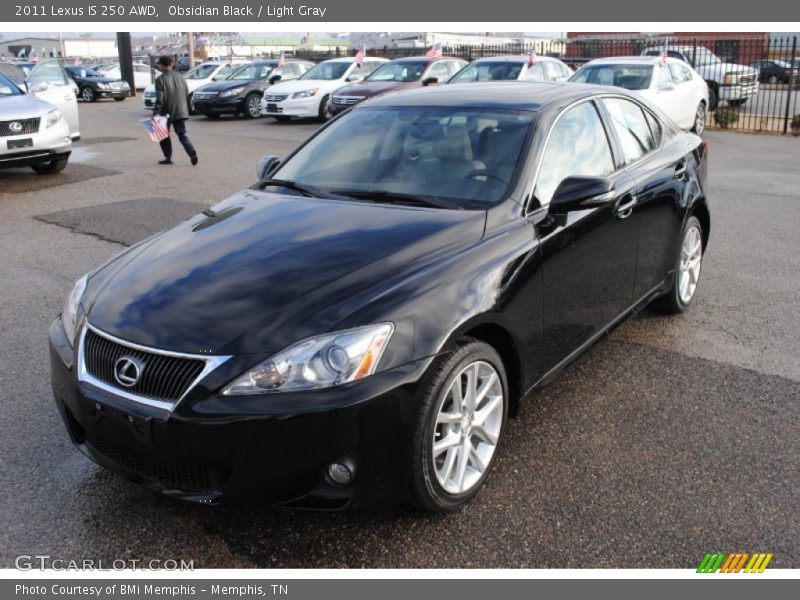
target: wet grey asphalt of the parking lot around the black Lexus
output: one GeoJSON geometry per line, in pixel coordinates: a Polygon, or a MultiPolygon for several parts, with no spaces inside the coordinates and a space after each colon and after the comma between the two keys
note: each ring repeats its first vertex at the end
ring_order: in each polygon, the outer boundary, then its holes
{"type": "Polygon", "coordinates": [[[487,487],[446,516],[233,511],[158,496],[75,450],[47,328],[80,275],[255,180],[314,123],[191,119],[200,164],[159,166],[140,98],[81,104],[59,175],[0,171],[0,567],[19,554],[205,567],[680,567],[773,552],[800,567],[797,138],[709,132],[696,304],[644,311],[541,391],[487,487]]]}

